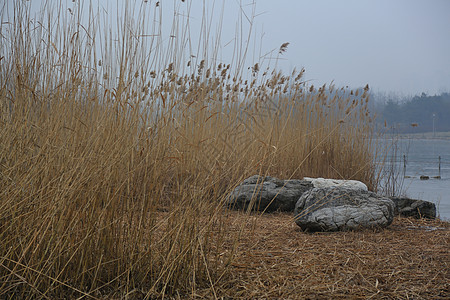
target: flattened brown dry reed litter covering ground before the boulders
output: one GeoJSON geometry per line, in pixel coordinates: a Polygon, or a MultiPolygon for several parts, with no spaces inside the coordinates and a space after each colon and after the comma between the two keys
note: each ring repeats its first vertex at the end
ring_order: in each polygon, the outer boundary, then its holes
{"type": "Polygon", "coordinates": [[[231,230],[246,228],[231,279],[216,286],[225,298],[450,298],[448,222],[399,217],[384,230],[308,234],[290,214],[227,215],[231,230]]]}

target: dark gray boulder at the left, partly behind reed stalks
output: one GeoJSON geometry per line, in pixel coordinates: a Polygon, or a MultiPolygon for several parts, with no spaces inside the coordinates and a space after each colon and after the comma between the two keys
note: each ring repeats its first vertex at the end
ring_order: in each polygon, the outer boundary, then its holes
{"type": "Polygon", "coordinates": [[[294,211],[304,192],[313,188],[309,181],[254,175],[244,180],[228,196],[227,205],[234,209],[257,211],[294,211]]]}

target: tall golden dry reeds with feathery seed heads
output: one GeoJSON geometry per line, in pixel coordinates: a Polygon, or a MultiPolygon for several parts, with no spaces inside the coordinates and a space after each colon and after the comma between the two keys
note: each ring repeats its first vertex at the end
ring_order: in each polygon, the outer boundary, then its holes
{"type": "Polygon", "coordinates": [[[376,186],[368,88],[316,89],[262,62],[246,76],[214,45],[190,58],[187,24],[174,17],[164,48],[147,4],[137,18],[126,5],[117,36],[95,8],[88,22],[81,6],[2,8],[1,298],[214,294],[238,243],[222,203],[239,181],[376,186]]]}

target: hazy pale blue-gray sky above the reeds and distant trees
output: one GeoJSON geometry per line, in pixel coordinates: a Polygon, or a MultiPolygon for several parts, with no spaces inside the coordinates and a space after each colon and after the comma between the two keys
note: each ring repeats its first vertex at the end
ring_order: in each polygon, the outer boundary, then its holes
{"type": "MultiPolygon", "coordinates": [[[[6,1],[11,3],[13,0],[6,1]]],[[[41,2],[31,1],[36,7],[41,2]]],[[[80,0],[64,2],[70,6],[80,0]]],[[[116,5],[123,3],[122,0],[93,2],[109,10],[110,17],[117,12],[116,5]]],[[[225,20],[221,45],[224,48],[230,37],[235,37],[240,4],[250,15],[251,3],[255,2],[257,17],[253,22],[253,36],[258,45],[252,46],[252,58],[259,51],[255,48],[265,53],[289,42],[278,66],[286,72],[293,67],[304,67],[306,79],[316,86],[334,81],[336,86],[356,88],[368,83],[372,91],[405,96],[450,92],[450,0],[159,2],[159,7],[164,7],[169,16],[173,15],[174,6],[183,10],[190,3],[191,23],[198,25],[203,3],[214,4],[219,9],[223,7],[225,20]]],[[[145,5],[155,4],[155,0],[149,0],[145,5]]],[[[168,22],[171,22],[170,18],[168,22]]]]}

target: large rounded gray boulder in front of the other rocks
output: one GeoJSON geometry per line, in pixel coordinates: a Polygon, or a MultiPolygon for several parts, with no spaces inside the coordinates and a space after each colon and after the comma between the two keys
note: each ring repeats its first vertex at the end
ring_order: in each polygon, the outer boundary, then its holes
{"type": "Polygon", "coordinates": [[[340,231],[387,227],[395,204],[377,194],[342,187],[305,192],[294,210],[295,223],[307,231],[340,231]]]}

